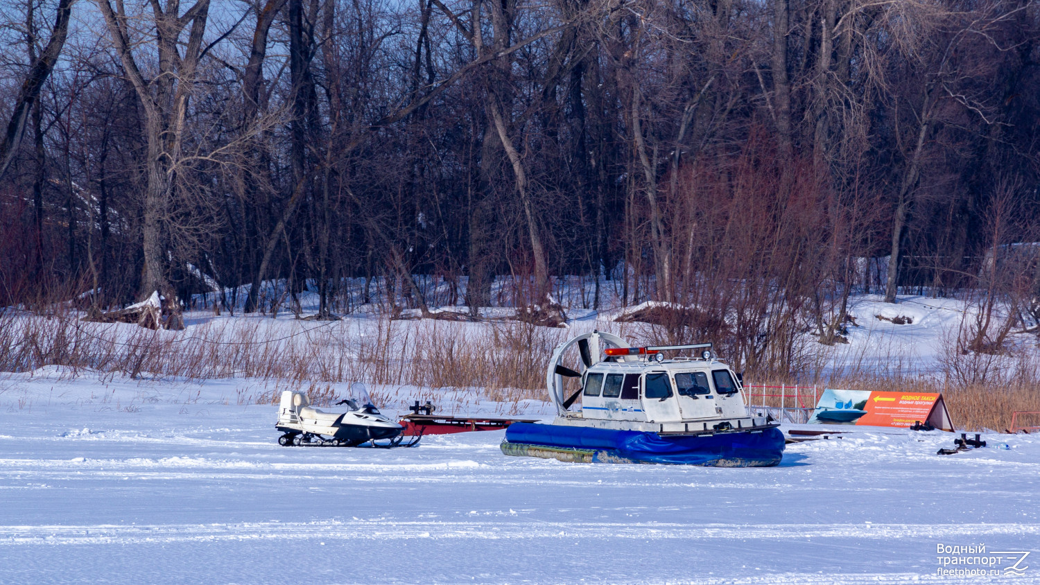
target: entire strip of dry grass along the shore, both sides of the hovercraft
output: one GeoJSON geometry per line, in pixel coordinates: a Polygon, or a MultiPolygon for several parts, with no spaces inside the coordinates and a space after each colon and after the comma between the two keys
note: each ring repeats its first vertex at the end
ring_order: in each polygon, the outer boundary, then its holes
{"type": "MultiPolygon", "coordinates": [[[[188,381],[265,381],[259,394],[239,392],[240,404],[276,402],[282,391],[300,389],[313,403],[327,404],[336,395],[333,384],[352,381],[398,387],[385,390],[385,396],[373,394],[380,405],[436,401],[439,394],[431,389],[473,389],[478,397],[512,404],[508,414],[515,414],[524,399],[544,400],[545,362],[556,344],[576,333],[523,322],[373,318],[360,331],[346,322],[293,321],[281,327],[268,323],[218,320],[175,333],[83,323],[71,311],[47,316],[7,312],[0,314],[0,371],[60,366],[60,375],[70,377],[96,372],[188,381]],[[286,339],[290,333],[295,336],[286,339]],[[401,394],[405,387],[408,396],[401,394]]],[[[628,325],[598,326],[641,339],[653,335],[628,325]]],[[[814,380],[821,390],[941,392],[954,424],[965,430],[1003,431],[1011,426],[1012,411],[1040,410],[1040,362],[1035,351],[964,354],[956,350],[955,342],[946,341],[950,348],[940,357],[940,371],[928,375],[918,372],[911,358],[893,352],[883,370],[873,365],[876,360],[858,355],[840,367],[832,364],[829,370],[824,369],[823,358],[807,360],[797,375],[749,373],[746,379],[768,385],[814,380]],[[829,377],[820,375],[824,371],[830,372],[829,377]]],[[[785,402],[790,405],[792,400],[785,402]]],[[[780,399],[769,398],[766,404],[779,406],[780,399]]]]}

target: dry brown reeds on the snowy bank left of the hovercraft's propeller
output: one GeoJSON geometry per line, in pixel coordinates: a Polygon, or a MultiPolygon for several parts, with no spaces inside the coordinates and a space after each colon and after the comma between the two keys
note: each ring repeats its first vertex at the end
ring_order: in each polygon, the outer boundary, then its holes
{"type": "Polygon", "coordinates": [[[254,378],[276,382],[270,399],[285,390],[282,382],[306,387],[315,403],[331,392],[331,383],[349,381],[479,388],[489,397],[519,400],[542,396],[546,355],[566,335],[522,322],[384,318],[360,333],[346,322],[268,324],[222,320],[185,331],[154,331],[85,323],[71,311],[8,312],[0,315],[0,371],[60,366],[70,377],[101,372],[189,381],[254,378]]]}

